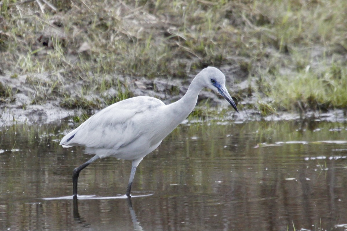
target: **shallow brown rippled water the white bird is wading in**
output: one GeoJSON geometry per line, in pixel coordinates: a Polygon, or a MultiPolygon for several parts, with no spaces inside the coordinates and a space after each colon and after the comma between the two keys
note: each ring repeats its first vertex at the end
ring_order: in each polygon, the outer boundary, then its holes
{"type": "Polygon", "coordinates": [[[0,132],[0,230],[346,230],[347,124],[180,125],[137,168],[58,143],[67,124],[0,132]]]}

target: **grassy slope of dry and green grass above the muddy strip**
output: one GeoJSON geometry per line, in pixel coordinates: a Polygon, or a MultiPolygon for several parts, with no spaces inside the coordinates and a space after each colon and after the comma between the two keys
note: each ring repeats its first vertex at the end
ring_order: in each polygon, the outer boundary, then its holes
{"type": "MultiPolygon", "coordinates": [[[[0,1],[0,76],[25,75],[31,104],[101,108],[136,95],[140,77],[185,81],[211,65],[246,82],[232,90],[253,98],[240,109],[347,107],[345,0],[39,2],[0,1]]],[[[0,84],[1,106],[18,89],[0,84]]]]}

